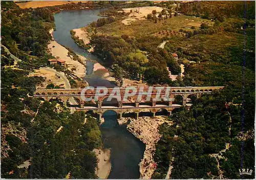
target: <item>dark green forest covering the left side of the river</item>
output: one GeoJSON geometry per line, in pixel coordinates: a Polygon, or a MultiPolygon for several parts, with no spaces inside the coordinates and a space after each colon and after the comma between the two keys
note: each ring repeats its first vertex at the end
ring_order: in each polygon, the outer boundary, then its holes
{"type": "Polygon", "coordinates": [[[70,114],[54,100],[31,97],[44,78],[27,75],[52,58],[47,45],[53,12],[1,5],[1,43],[22,60],[8,67],[14,59],[1,47],[1,177],[97,178],[92,150],[101,146],[99,122],[84,113],[70,114]]]}

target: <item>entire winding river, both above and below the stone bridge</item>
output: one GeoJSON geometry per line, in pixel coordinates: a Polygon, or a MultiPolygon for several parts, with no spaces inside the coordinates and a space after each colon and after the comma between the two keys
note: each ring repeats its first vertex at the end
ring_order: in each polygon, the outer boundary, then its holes
{"type": "MultiPolygon", "coordinates": [[[[70,30],[85,27],[96,21],[100,10],[65,10],[54,15],[56,31],[54,39],[61,45],[71,48],[75,53],[86,57],[87,75],[84,78],[90,86],[113,87],[113,83],[93,74],[93,65],[98,58],[83,49],[71,38],[70,30]]],[[[125,125],[118,125],[117,115],[113,111],[103,114],[104,123],[100,126],[104,148],[111,149],[112,170],[109,178],[139,178],[139,162],[143,158],[145,145],[126,130],[125,125]]]]}

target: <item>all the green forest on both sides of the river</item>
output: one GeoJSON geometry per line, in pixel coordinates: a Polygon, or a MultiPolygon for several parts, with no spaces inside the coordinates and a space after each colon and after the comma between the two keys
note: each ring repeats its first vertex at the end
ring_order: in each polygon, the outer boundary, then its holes
{"type": "MultiPolygon", "coordinates": [[[[80,112],[70,114],[55,101],[29,97],[44,79],[27,75],[53,58],[47,53],[49,30],[54,28],[53,13],[109,4],[119,8],[135,6],[98,2],[19,9],[12,2],[1,2],[1,43],[22,60],[17,68],[7,67],[14,60],[1,49],[2,177],[97,178],[97,159],[92,149],[101,146],[99,122],[80,112]],[[20,166],[26,161],[30,163],[28,169],[20,166]]],[[[152,178],[165,178],[170,164],[171,178],[241,178],[241,163],[253,170],[251,176],[245,177],[253,178],[255,2],[189,2],[181,4],[178,12],[187,15],[185,18],[201,17],[206,22],[188,29],[177,23],[183,17],[157,23],[147,19],[124,30],[124,26],[117,25],[120,19],[102,18],[91,24],[95,32],[90,45],[115,73],[120,85],[123,78],[129,78],[142,79],[148,85],[225,86],[222,91],[196,99],[190,110],[182,107],[173,112],[168,117],[173,124],[159,127],[162,137],[156,144],[157,169],[152,178]],[[172,27],[168,23],[173,21],[172,27]],[[160,32],[162,28],[164,32],[160,32]],[[184,36],[179,36],[177,29],[184,36]],[[173,36],[154,35],[170,31],[175,31],[173,36]],[[164,48],[158,48],[165,40],[168,42],[164,48]],[[180,75],[181,63],[185,66],[183,79],[178,76],[176,81],[170,80],[166,67],[180,75]]],[[[116,15],[115,11],[109,13],[116,15]]]]}

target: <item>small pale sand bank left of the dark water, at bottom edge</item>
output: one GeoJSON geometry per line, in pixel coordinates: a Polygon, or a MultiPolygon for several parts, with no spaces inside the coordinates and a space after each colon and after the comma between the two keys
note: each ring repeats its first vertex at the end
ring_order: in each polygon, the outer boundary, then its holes
{"type": "Polygon", "coordinates": [[[108,178],[111,171],[111,162],[110,162],[110,149],[93,149],[96,153],[98,159],[98,167],[95,169],[96,175],[100,179],[108,178]]]}

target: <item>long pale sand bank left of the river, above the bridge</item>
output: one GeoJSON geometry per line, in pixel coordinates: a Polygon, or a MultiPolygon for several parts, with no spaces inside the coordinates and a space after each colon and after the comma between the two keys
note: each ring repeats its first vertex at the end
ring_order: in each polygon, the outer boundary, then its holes
{"type": "MultiPolygon", "coordinates": [[[[50,30],[50,34],[52,35],[53,38],[53,29],[50,30]]],[[[54,56],[55,58],[62,59],[66,61],[66,64],[68,66],[68,69],[70,71],[73,71],[76,76],[79,78],[83,78],[86,75],[86,67],[81,64],[78,61],[74,61],[72,59],[72,56],[69,56],[69,50],[57,43],[54,39],[50,41],[48,44],[48,49],[49,52],[54,56]]],[[[85,62],[86,58],[83,56],[78,55],[81,61],[85,62]]]]}

